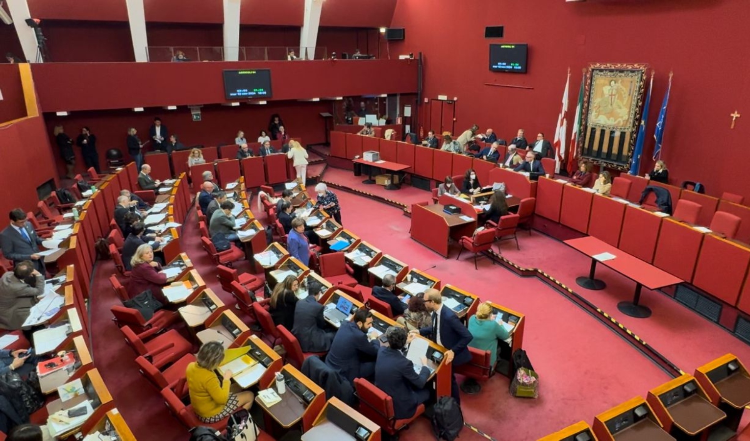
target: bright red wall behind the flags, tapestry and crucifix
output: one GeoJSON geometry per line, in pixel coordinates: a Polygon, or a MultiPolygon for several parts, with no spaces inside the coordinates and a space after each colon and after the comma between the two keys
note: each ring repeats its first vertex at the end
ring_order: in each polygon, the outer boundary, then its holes
{"type": "MultiPolygon", "coordinates": [[[[406,40],[391,43],[392,57],[423,52],[424,96],[458,97],[457,130],[476,122],[507,139],[518,127],[524,127],[527,135],[542,130],[552,139],[568,67],[572,72],[568,113],[572,113],[580,69],[589,62],[649,63],[656,77],[644,156],[652,151],[655,121],[667,75],[673,70],[663,154],[673,183],[697,180],[713,195],[732,190],[750,196],[750,179],[715,171],[708,164],[719,158],[709,159],[707,154],[718,147],[721,157],[750,163],[750,119],[740,119],[734,130],[729,128],[729,114],[750,102],[746,76],[750,58],[744,55],[750,32],[739,31],[747,28],[746,2],[557,0],[544,1],[544,7],[540,3],[399,0],[392,27],[406,28],[406,40]],[[429,20],[425,10],[430,11],[429,20]],[[452,31],[440,31],[440,23],[451,23],[452,31]],[[455,28],[455,23],[466,26],[455,28]],[[505,38],[484,39],[484,26],[498,25],[505,26],[505,38]],[[488,70],[488,44],[499,42],[529,43],[528,74],[488,70]]],[[[649,161],[642,164],[641,173],[647,167],[649,161]]]]}

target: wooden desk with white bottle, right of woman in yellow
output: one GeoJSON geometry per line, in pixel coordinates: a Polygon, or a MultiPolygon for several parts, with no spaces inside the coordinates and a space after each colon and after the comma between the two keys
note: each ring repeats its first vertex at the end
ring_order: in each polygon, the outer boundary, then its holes
{"type": "MultiPolygon", "coordinates": [[[[276,422],[281,428],[288,429],[293,425],[296,425],[303,419],[305,415],[310,414],[306,419],[308,420],[308,428],[312,425],[314,418],[323,409],[323,405],[326,402],[326,391],[320,386],[313,383],[308,377],[298,371],[292,365],[284,365],[281,368],[281,374],[284,375],[285,386],[287,391],[284,394],[278,394],[281,398],[281,402],[274,404],[272,407],[266,407],[263,404],[263,400],[256,395],[255,402],[260,405],[261,409],[270,416],[274,422],[276,422]],[[306,389],[311,392],[314,396],[310,399],[309,403],[305,401],[300,391],[297,390],[297,386],[302,386],[302,389],[306,389]]],[[[278,392],[275,387],[275,379],[269,380],[267,383],[260,383],[262,389],[273,389],[278,392]]],[[[305,430],[303,424],[303,430],[305,430]]],[[[269,425],[266,425],[268,428],[269,425]]]]}

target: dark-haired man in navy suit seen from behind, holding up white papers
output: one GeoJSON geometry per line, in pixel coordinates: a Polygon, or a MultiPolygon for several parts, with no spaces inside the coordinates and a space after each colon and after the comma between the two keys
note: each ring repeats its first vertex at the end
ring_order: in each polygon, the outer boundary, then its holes
{"type": "Polygon", "coordinates": [[[386,338],[388,346],[380,348],[375,362],[375,386],[392,398],[395,419],[408,419],[414,416],[420,404],[430,399],[430,389],[425,389],[430,370],[427,359],[422,357],[418,374],[414,363],[401,352],[407,341],[416,338],[414,335],[407,337],[406,329],[391,326],[386,338]]]}

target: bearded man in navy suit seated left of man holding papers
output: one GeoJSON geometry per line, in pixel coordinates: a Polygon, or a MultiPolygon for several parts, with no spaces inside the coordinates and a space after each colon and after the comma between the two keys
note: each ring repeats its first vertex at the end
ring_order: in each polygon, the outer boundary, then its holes
{"type": "Polygon", "coordinates": [[[368,308],[359,308],[352,320],[341,322],[341,328],[336,332],[326,356],[326,365],[338,371],[350,383],[354,383],[355,378],[372,380],[375,374],[375,358],[380,341],[374,333],[368,335],[372,326],[373,314],[368,308]]]}

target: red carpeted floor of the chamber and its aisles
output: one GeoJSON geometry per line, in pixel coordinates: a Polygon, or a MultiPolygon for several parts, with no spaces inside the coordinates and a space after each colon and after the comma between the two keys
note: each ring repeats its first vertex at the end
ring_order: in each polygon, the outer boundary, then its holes
{"type": "MultiPolygon", "coordinates": [[[[331,168],[326,171],[325,179],[341,184],[354,180],[351,172],[331,168]]],[[[645,395],[649,389],[670,380],[634,347],[550,287],[532,278],[520,278],[484,258],[479,260],[476,271],[469,254],[455,260],[458,248],[451,259],[445,260],[409,238],[410,218],[404,217],[400,208],[343,190],[335,191],[341,202],[344,226],[362,239],[412,268],[425,270],[434,266],[429,272],[443,283],[526,314],[524,348],[540,375],[540,398],[511,398],[508,380],[499,376],[484,383],[478,395],[462,398],[466,422],[491,437],[535,440],[581,419],[591,422],[596,414],[636,395],[645,395]]],[[[387,193],[399,201],[429,199],[428,192],[412,187],[387,193]]],[[[261,222],[265,220],[264,214],[257,215],[261,222]]],[[[661,293],[643,292],[643,303],[654,310],[652,318],[619,317],[614,305],[632,296],[631,282],[601,269],[598,277],[607,282],[606,290],[580,289],[574,279],[587,271],[589,260],[540,233],[528,236],[523,232],[518,237],[520,251],[511,242],[503,242],[505,257],[521,266],[544,269],[568,284],[621,319],[682,370],[692,372],[697,365],[727,352],[750,359],[750,348],[745,344],[661,293]]],[[[231,296],[217,284],[213,265],[199,245],[194,211],[182,230],[181,245],[209,287],[224,302],[233,305],[231,296]]],[[[247,269],[244,264],[236,267],[247,269]]],[[[133,351],[110,321],[109,308],[118,302],[107,281],[114,271],[111,261],[98,264],[93,282],[91,315],[96,365],[139,441],[187,440],[186,431],[166,410],[159,393],[139,375],[133,351]]],[[[432,437],[429,422],[418,419],[401,439],[432,437]]],[[[461,438],[481,439],[468,429],[461,438]]]]}

